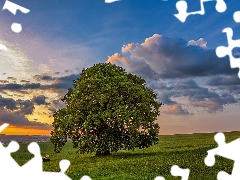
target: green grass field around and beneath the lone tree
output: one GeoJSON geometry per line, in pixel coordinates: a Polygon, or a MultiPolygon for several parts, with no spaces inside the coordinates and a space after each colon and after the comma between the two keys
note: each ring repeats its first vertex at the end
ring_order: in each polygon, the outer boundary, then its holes
{"type": "MultiPolygon", "coordinates": [[[[240,132],[224,133],[226,142],[240,137],[240,132]]],[[[32,155],[25,143],[12,156],[20,164],[25,164],[32,155]]],[[[151,179],[163,176],[166,180],[177,180],[170,174],[172,165],[190,169],[190,180],[214,180],[219,171],[231,173],[233,161],[216,156],[213,167],[204,164],[207,150],[217,147],[214,134],[191,134],[159,136],[159,143],[148,149],[119,151],[107,157],[96,157],[94,154],[76,154],[69,141],[61,151],[55,153],[51,143],[39,143],[42,156],[50,155],[51,161],[43,162],[44,171],[60,171],[59,162],[68,159],[71,162],[66,174],[73,180],[80,180],[83,175],[93,180],[107,179],[151,179]]]]}

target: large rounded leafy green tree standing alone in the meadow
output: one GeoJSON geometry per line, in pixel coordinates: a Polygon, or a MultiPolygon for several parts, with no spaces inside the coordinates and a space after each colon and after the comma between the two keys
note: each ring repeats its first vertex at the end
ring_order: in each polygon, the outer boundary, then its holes
{"type": "Polygon", "coordinates": [[[162,103],[145,86],[144,79],[110,63],[83,69],[62,99],[66,107],[53,115],[55,151],[67,138],[80,153],[97,155],[156,144],[162,103]]]}

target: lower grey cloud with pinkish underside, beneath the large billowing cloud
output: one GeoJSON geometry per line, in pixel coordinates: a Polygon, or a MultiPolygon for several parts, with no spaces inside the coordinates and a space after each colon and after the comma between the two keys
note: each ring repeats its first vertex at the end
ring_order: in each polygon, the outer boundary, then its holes
{"type": "Polygon", "coordinates": [[[168,86],[162,83],[155,83],[150,88],[158,94],[160,102],[174,107],[169,112],[173,110],[180,112],[181,110],[180,106],[174,106],[177,104],[177,101],[172,100],[173,98],[184,98],[192,107],[203,108],[209,113],[222,111],[225,105],[237,103],[237,99],[232,94],[226,92],[221,94],[210,91],[206,87],[199,86],[192,79],[179,79],[176,82],[171,81],[168,86]]]}

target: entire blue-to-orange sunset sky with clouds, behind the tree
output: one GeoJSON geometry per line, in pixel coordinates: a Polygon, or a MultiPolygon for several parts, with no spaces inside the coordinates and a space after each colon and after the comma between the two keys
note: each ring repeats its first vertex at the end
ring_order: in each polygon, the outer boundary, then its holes
{"type": "MultiPolygon", "coordinates": [[[[226,27],[240,39],[237,0],[205,2],[204,15],[183,23],[177,0],[12,0],[29,13],[0,11],[0,124],[4,134],[49,135],[53,113],[83,68],[110,62],[146,80],[164,103],[159,134],[239,131],[240,79],[229,57],[226,27]],[[22,31],[11,30],[20,23],[22,31]]],[[[186,1],[188,12],[200,0],[186,1]]],[[[0,2],[0,7],[5,2],[0,2]]],[[[238,57],[239,49],[233,49],[238,57]]]]}

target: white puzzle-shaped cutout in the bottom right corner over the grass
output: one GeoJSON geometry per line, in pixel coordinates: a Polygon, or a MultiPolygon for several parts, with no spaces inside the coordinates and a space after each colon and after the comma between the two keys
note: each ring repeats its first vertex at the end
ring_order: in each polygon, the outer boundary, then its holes
{"type": "Polygon", "coordinates": [[[218,143],[218,147],[208,151],[207,157],[204,162],[207,166],[213,166],[215,164],[215,155],[225,157],[234,161],[232,174],[228,174],[224,171],[220,171],[217,175],[218,180],[239,180],[240,179],[240,139],[236,139],[230,143],[225,142],[225,136],[223,133],[217,133],[214,136],[215,141],[218,143]]]}

